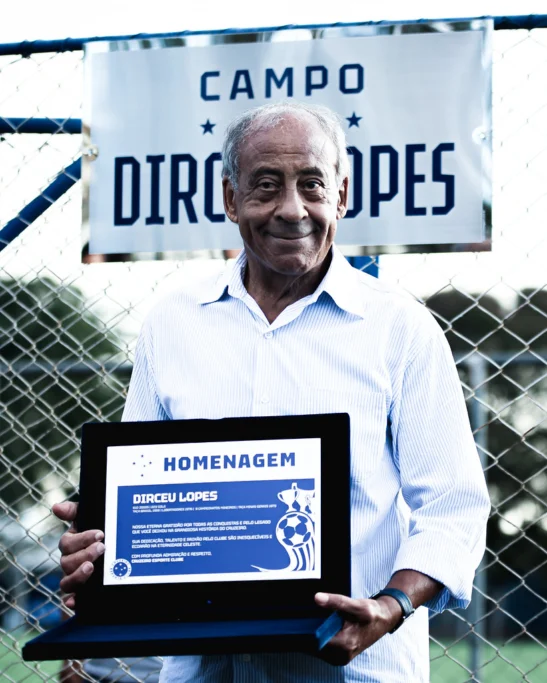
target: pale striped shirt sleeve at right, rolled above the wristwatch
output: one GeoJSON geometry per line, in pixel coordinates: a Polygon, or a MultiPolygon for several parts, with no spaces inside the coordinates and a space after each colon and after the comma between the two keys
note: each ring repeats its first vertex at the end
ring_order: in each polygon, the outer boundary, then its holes
{"type": "Polygon", "coordinates": [[[391,417],[401,492],[410,508],[408,537],[393,571],[414,569],[442,583],[442,592],[426,603],[440,612],[471,600],[490,501],[450,347],[424,313],[427,338],[406,367],[391,417]]]}

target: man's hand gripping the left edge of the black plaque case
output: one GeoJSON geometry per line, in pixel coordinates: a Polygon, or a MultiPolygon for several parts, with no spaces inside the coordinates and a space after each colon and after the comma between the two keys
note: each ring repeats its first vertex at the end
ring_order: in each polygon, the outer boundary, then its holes
{"type": "Polygon", "coordinates": [[[56,503],[52,509],[63,522],[72,522],[70,529],[61,536],[59,550],[64,573],[60,586],[63,593],[67,593],[63,602],[74,609],[74,591],[89,579],[93,573],[93,562],[104,553],[104,533],[99,529],[78,533],[75,526],[77,503],[56,503]]]}

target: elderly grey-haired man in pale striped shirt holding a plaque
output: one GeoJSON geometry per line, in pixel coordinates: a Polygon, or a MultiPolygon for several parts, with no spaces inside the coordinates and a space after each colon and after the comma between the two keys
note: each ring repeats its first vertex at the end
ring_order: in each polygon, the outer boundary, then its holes
{"type": "MultiPolygon", "coordinates": [[[[428,681],[427,607],[469,602],[489,511],[450,349],[423,306],[333,246],[349,164],[332,112],[248,111],[228,128],[223,163],[245,249],[220,279],[148,317],[124,419],[348,412],[352,595],[316,596],[345,618],[323,659],[174,657],[163,680],[428,681]]],[[[65,591],[93,571],[100,539],[63,536],[65,591]]]]}

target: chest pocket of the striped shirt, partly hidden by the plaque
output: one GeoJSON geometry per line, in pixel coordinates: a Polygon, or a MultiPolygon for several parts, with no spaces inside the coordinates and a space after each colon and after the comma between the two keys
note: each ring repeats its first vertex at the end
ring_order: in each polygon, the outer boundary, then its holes
{"type": "Polygon", "coordinates": [[[349,414],[351,477],[354,481],[365,483],[370,473],[389,455],[386,449],[387,403],[382,392],[333,391],[306,387],[299,392],[297,401],[297,414],[349,414]]]}

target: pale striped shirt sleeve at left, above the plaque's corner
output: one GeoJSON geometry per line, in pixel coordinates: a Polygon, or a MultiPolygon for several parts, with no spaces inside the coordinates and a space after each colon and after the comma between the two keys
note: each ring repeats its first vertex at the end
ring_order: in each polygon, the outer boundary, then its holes
{"type": "Polygon", "coordinates": [[[153,349],[150,328],[145,322],[135,352],[135,364],[123,411],[124,422],[169,420],[157,391],[154,378],[153,349]]]}

